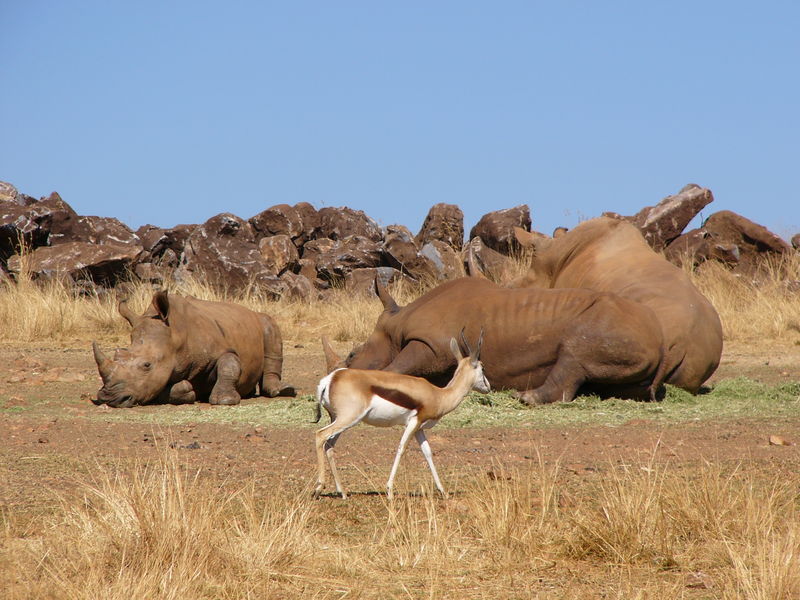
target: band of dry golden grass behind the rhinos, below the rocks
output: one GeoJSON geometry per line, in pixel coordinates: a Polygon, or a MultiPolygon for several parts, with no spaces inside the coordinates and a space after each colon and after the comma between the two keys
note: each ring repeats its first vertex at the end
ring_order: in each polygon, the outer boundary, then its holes
{"type": "MultiPolygon", "coordinates": [[[[505,281],[517,279],[526,270],[526,257],[512,261],[505,281]]],[[[722,319],[727,340],[781,339],[800,332],[799,290],[790,282],[800,281],[800,255],[780,264],[767,265],[758,280],[738,276],[718,263],[702,265],[691,277],[711,300],[722,319]]],[[[318,341],[325,334],[338,341],[366,339],[381,311],[373,296],[333,290],[324,301],[272,301],[257,289],[220,292],[200,281],[170,283],[173,292],[209,300],[239,302],[273,315],[288,340],[318,341]]],[[[390,287],[400,304],[410,302],[429,286],[414,289],[406,284],[390,287]]],[[[0,284],[0,340],[81,340],[113,338],[124,341],[127,323],[117,313],[120,295],[130,298],[135,310],[143,310],[153,294],[148,284],[131,283],[124,291],[101,296],[81,296],[60,281],[32,282],[22,277],[17,284],[0,284]]]]}

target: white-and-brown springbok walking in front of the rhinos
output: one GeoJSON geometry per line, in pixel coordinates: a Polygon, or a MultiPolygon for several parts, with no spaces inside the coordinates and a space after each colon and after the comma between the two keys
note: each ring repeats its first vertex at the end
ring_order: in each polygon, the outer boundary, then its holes
{"type": "MultiPolygon", "coordinates": [[[[408,440],[412,435],[422,450],[428,462],[433,481],[442,496],[447,497],[439,474],[433,464],[428,439],[425,429],[430,429],[439,422],[444,415],[455,410],[464,396],[470,390],[481,393],[490,391],[489,382],[483,375],[483,365],[480,362],[481,345],[483,344],[483,331],[478,338],[477,347],[472,350],[463,331],[462,340],[467,347],[468,355],[465,357],[455,338],[450,338],[450,350],[458,361],[458,366],[453,378],[443,388],[436,387],[421,377],[401,375],[388,371],[367,371],[361,369],[336,369],[323,377],[317,387],[317,415],[319,422],[324,407],[331,417],[331,424],[319,429],[316,433],[317,462],[319,463],[319,476],[314,496],[319,496],[325,487],[326,469],[325,457],[331,467],[336,491],[343,499],[347,494],[339,480],[336,471],[336,461],[333,456],[333,447],[339,436],[346,430],[358,425],[362,421],[377,427],[392,425],[405,425],[405,431],[400,438],[400,447],[394,457],[389,481],[386,483],[386,493],[392,499],[392,487],[400,458],[406,449],[408,440]]],[[[323,347],[326,346],[323,340],[323,347]]],[[[327,354],[327,348],[325,348],[327,354]]]]}

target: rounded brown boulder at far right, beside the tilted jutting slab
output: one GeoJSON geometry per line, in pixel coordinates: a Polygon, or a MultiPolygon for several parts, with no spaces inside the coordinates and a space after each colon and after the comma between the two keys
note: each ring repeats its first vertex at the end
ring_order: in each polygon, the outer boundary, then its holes
{"type": "Polygon", "coordinates": [[[737,270],[742,272],[755,272],[766,257],[778,257],[791,251],[787,242],[766,227],[729,210],[711,215],[703,229],[715,244],[738,248],[737,270]]]}

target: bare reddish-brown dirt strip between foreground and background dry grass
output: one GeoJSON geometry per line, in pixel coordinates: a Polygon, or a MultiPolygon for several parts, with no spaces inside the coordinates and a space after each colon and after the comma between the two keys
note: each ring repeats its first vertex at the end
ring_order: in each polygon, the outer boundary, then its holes
{"type": "MultiPolygon", "coordinates": [[[[340,350],[345,350],[342,344],[340,350]]],[[[284,380],[300,393],[313,393],[322,375],[317,348],[286,344],[284,380]]],[[[729,343],[718,372],[709,382],[747,376],[777,383],[800,381],[800,345],[758,346],[729,343]]],[[[298,489],[315,477],[313,429],[223,424],[170,427],[96,417],[107,407],[90,399],[99,377],[88,347],[0,347],[0,504],[6,510],[44,509],[42,489],[69,486],[87,464],[155,458],[165,447],[180,451],[188,464],[231,480],[255,478],[272,486],[276,478],[298,489]],[[39,403],[45,408],[19,410],[39,403]],[[17,408],[18,410],[14,410],[17,408]]],[[[269,402],[252,399],[247,402],[269,402]]],[[[235,410],[210,407],[145,406],[128,411],[235,410]]],[[[542,408],[539,410],[547,410],[542,408]]],[[[309,411],[310,414],[311,411],[309,411]]],[[[391,465],[399,430],[359,427],[337,446],[342,476],[356,493],[381,488],[391,465]],[[372,487],[374,486],[374,487],[372,487]],[[372,489],[370,489],[372,487],[372,489]]],[[[593,477],[620,462],[652,455],[676,465],[703,460],[761,461],[796,471],[800,445],[769,444],[770,435],[800,442],[800,420],[741,419],[724,423],[664,425],[633,420],[621,426],[574,428],[436,429],[430,434],[437,466],[452,481],[458,473],[491,473],[498,465],[524,468],[541,457],[560,461],[566,473],[593,477]]],[[[413,449],[401,473],[406,485],[429,479],[421,454],[413,449]]],[[[399,481],[402,483],[402,481],[399,481]]]]}

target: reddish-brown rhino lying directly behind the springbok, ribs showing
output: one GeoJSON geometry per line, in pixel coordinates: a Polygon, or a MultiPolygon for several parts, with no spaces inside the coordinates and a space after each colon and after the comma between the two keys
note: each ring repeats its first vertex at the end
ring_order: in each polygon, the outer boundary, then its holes
{"type": "MultiPolygon", "coordinates": [[[[462,329],[475,339],[484,329],[486,378],[494,389],[522,391],[529,404],[572,400],[583,384],[654,398],[661,383],[662,338],[653,312],[614,294],[507,289],[465,277],[399,307],[377,282],[376,288],[384,311],[344,366],[442,384],[456,364],[450,339],[462,329]]],[[[331,370],[336,356],[325,351],[331,370]]]]}

